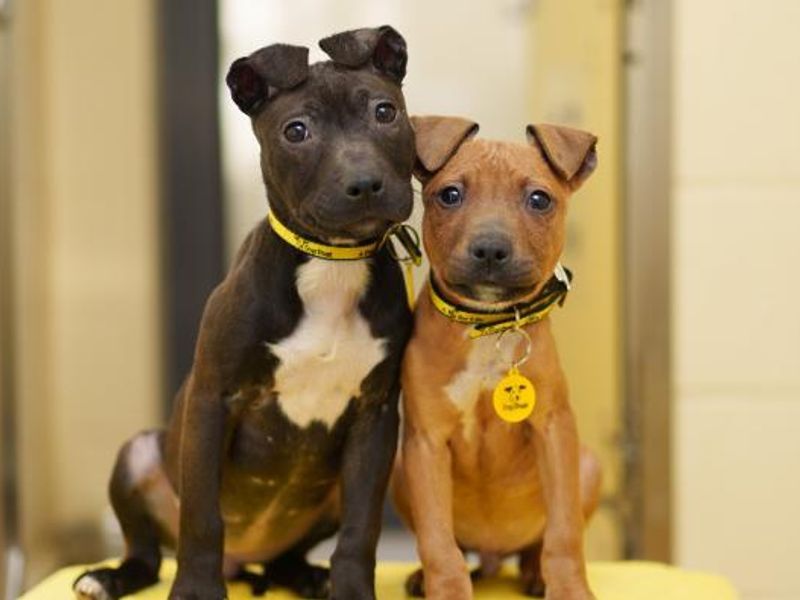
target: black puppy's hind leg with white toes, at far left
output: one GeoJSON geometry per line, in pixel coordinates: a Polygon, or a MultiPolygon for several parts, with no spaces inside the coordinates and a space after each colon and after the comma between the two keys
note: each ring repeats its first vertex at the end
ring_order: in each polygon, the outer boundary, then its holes
{"type": "Polygon", "coordinates": [[[116,568],[87,571],[73,584],[78,598],[116,600],[158,581],[162,542],[174,543],[177,498],[161,460],[163,434],[147,431],[119,451],[111,476],[111,505],[125,536],[126,553],[116,568]]]}

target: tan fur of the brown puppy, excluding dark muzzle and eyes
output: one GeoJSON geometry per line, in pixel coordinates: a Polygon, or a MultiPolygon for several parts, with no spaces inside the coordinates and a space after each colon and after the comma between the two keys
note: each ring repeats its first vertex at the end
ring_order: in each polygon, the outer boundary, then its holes
{"type": "MultiPolygon", "coordinates": [[[[417,131],[418,146],[429,143],[417,131]]],[[[535,295],[561,255],[567,199],[591,169],[583,174],[573,168],[578,175],[567,181],[537,141],[531,142],[459,139],[452,158],[424,179],[425,248],[442,291],[461,304],[487,308],[447,285],[471,234],[486,223],[511,233],[514,254],[525,265],[530,287],[514,302],[535,295]],[[463,206],[455,210],[435,200],[453,183],[466,190],[463,206]],[[530,189],[546,190],[553,210],[530,214],[524,202],[530,189]]],[[[572,164],[571,151],[590,151],[557,150],[572,164]]],[[[537,548],[543,543],[547,598],[592,598],[582,533],[585,516],[598,502],[600,472],[594,457],[580,449],[549,321],[526,327],[531,358],[521,371],[536,387],[537,405],[518,424],[495,414],[491,393],[508,368],[507,354],[518,355],[521,342],[507,348],[506,356],[493,354],[495,336],[471,340],[468,329],[441,315],[423,289],[403,365],[404,432],[392,490],[417,535],[426,596],[471,597],[459,548],[480,553],[485,566],[493,557],[496,563],[497,557],[519,553],[522,582],[535,590],[541,580],[537,548]]]]}

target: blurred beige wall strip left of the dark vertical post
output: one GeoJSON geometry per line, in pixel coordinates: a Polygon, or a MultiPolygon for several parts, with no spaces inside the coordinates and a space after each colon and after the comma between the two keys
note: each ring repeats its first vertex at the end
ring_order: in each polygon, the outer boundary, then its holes
{"type": "Polygon", "coordinates": [[[13,42],[23,533],[36,577],[158,421],[151,2],[26,0],[13,42]]]}

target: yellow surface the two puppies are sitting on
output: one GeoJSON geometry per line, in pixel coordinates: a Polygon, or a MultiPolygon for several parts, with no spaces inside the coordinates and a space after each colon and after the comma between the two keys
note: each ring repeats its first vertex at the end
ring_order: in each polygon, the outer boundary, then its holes
{"type": "MultiPolygon", "coordinates": [[[[401,600],[405,577],[416,568],[411,563],[381,563],[378,566],[378,599],[401,600]]],[[[56,600],[71,598],[70,588],[83,567],[62,569],[47,578],[36,588],[22,596],[22,600],[56,600]]],[[[166,561],[162,569],[162,581],[135,598],[157,600],[167,597],[169,578],[175,572],[175,563],[166,561]]],[[[510,573],[509,573],[510,575],[510,573]]],[[[738,597],[731,585],[716,575],[682,571],[657,563],[615,562],[592,563],[589,579],[598,600],[736,600],[738,597]]],[[[243,584],[228,586],[230,600],[252,598],[243,584]]],[[[272,600],[288,600],[295,596],[285,592],[267,592],[272,600]]],[[[502,577],[478,582],[476,599],[501,600],[502,598],[525,598],[517,591],[513,577],[502,577]]]]}

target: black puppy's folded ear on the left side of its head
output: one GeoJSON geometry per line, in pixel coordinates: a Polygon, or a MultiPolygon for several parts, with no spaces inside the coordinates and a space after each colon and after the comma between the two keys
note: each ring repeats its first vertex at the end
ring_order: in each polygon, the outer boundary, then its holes
{"type": "Polygon", "coordinates": [[[290,90],[308,78],[308,48],[273,44],[233,62],[225,83],[242,112],[255,116],[281,90],[290,90]]]}

